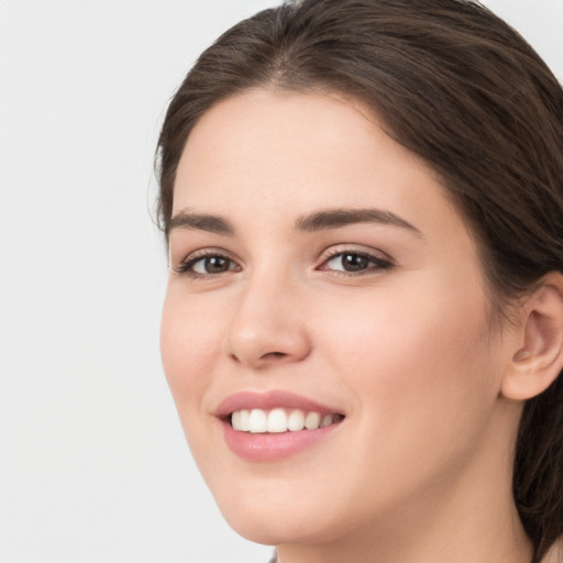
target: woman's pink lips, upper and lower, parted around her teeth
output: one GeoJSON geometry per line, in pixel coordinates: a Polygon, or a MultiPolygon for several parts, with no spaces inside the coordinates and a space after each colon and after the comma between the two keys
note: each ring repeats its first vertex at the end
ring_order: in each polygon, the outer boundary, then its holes
{"type": "Polygon", "coordinates": [[[336,409],[288,391],[243,391],[231,395],[219,405],[216,415],[221,419],[227,445],[235,455],[252,462],[280,461],[328,438],[341,424],[339,422],[318,430],[253,434],[234,430],[228,420],[228,416],[235,410],[253,408],[269,410],[275,407],[301,409],[321,415],[340,413],[336,409]]]}

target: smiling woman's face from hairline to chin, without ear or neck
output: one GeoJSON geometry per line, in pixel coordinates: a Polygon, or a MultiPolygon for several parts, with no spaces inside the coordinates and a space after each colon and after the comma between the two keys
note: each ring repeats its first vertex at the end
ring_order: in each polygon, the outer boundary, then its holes
{"type": "Polygon", "coordinates": [[[497,463],[506,352],[475,244],[360,103],[255,90],[211,109],[169,247],[164,367],[241,534],[352,537],[497,463]]]}

